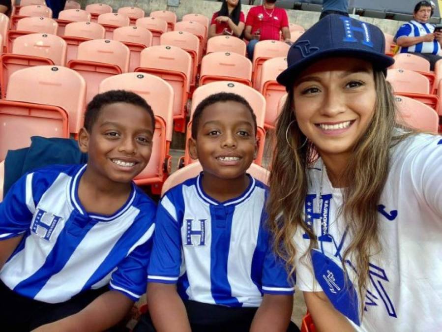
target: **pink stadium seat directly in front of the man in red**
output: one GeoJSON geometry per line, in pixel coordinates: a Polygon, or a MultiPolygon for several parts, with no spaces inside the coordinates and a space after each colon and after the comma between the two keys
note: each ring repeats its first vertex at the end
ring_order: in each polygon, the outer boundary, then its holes
{"type": "Polygon", "coordinates": [[[265,60],[277,57],[287,57],[290,45],[278,40],[263,40],[256,44],[253,52],[252,82],[255,89],[261,85],[261,67],[265,60]]]}

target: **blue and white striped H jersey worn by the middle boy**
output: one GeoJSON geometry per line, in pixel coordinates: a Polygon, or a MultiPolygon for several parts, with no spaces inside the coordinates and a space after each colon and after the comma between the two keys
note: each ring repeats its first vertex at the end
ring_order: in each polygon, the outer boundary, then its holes
{"type": "Polygon", "coordinates": [[[264,293],[293,294],[265,227],[267,187],[250,177],[244,193],[220,203],[202,174],[169,190],[155,220],[148,282],[177,283],[182,299],[257,307],[264,293]]]}

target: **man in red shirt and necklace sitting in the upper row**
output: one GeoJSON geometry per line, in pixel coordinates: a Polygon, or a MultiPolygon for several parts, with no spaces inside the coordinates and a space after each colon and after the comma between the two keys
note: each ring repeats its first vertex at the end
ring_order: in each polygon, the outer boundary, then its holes
{"type": "Polygon", "coordinates": [[[253,50],[260,40],[279,40],[282,31],[284,41],[291,43],[289,19],[284,9],[275,5],[276,0],[264,0],[264,4],[250,8],[245,22],[244,37],[249,40],[247,54],[253,59],[253,50]]]}

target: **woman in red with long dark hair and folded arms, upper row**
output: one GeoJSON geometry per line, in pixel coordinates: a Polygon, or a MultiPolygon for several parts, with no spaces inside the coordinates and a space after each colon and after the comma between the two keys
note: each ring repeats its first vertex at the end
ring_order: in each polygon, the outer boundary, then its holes
{"type": "Polygon", "coordinates": [[[213,13],[208,37],[223,34],[240,37],[244,30],[244,13],[241,11],[240,0],[224,0],[221,9],[213,13]]]}

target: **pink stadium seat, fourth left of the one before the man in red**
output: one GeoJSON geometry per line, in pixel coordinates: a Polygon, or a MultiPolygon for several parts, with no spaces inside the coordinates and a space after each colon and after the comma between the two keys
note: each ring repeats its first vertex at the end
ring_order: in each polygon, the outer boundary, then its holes
{"type": "Polygon", "coordinates": [[[66,63],[77,59],[78,45],[90,39],[103,39],[106,30],[94,22],[69,23],[61,36],[67,44],[66,63]]]}

